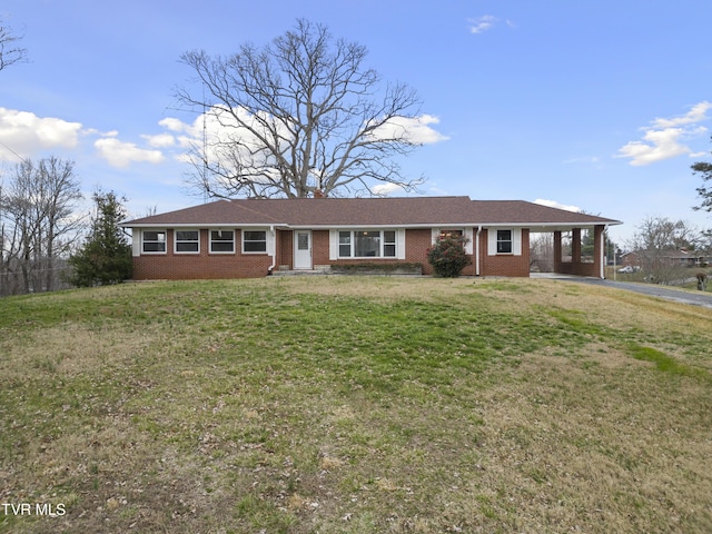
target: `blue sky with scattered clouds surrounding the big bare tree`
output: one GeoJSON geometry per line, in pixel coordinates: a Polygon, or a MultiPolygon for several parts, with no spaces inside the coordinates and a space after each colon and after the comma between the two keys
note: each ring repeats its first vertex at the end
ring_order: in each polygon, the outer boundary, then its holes
{"type": "Polygon", "coordinates": [[[624,220],[710,228],[690,166],[712,151],[709,0],[3,0],[29,62],[0,71],[0,171],[76,161],[134,216],[200,202],[186,191],[172,95],[187,50],[264,44],[297,18],[369,50],[417,90],[431,142],[403,161],[427,195],[547,200],[624,220]]]}

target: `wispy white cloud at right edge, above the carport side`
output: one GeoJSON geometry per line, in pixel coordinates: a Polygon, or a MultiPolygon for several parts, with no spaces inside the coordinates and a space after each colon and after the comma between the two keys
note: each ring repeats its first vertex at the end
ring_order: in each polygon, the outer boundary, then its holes
{"type": "Polygon", "coordinates": [[[643,139],[630,141],[619,149],[620,158],[630,158],[631,165],[644,166],[674,158],[682,155],[694,156],[684,142],[703,136],[708,129],[695,126],[709,120],[706,112],[712,109],[712,102],[702,101],[681,116],[670,119],[656,118],[652,126],[641,128],[644,131],[643,139]]]}

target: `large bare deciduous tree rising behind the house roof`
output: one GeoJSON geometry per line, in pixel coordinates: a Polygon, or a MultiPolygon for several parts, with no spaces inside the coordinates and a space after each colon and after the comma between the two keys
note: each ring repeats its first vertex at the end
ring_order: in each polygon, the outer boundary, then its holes
{"type": "Polygon", "coordinates": [[[364,67],[366,55],[305,20],[261,49],[184,53],[200,86],[176,96],[205,120],[191,152],[194,185],[214,197],[417,188],[423,178],[405,178],[394,161],[422,144],[413,135],[425,126],[417,96],[403,83],[383,86],[364,67]]]}

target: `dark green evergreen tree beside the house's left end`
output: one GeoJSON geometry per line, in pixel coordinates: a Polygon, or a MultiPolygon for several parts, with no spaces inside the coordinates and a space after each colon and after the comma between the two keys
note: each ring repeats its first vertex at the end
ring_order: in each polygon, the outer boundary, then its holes
{"type": "Polygon", "coordinates": [[[69,279],[79,287],[120,284],[131,277],[131,246],[119,222],[127,218],[122,201],[113,191],[93,194],[96,215],[83,247],[69,258],[69,279]]]}

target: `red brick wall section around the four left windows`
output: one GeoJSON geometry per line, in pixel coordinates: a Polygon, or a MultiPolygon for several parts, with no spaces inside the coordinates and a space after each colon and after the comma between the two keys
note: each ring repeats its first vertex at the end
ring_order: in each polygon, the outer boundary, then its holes
{"type": "Polygon", "coordinates": [[[235,231],[235,254],[209,254],[208,230],[200,230],[200,254],[175,254],[174,230],[166,231],[166,254],[134,257],[134,278],[198,279],[255,278],[266,276],[271,257],[266,254],[241,254],[241,234],[235,231]]]}

